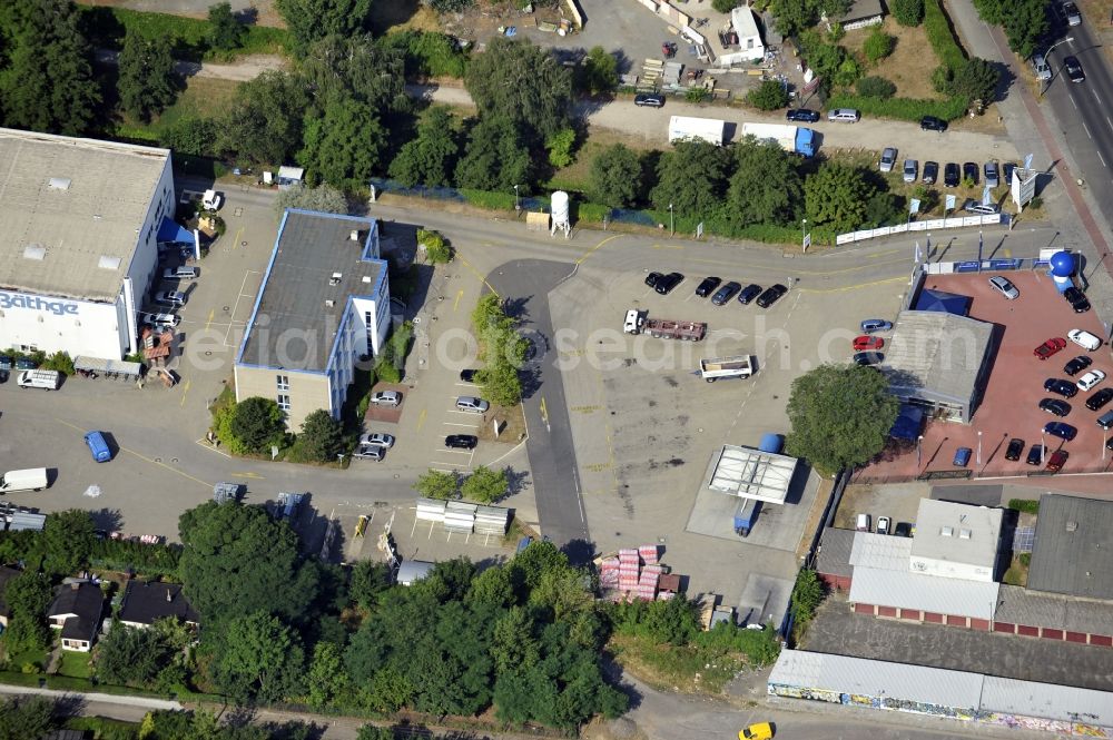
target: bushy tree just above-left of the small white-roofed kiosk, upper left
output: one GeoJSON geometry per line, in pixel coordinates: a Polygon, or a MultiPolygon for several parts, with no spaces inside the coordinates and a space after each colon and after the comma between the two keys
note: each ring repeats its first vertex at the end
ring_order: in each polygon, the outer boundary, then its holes
{"type": "Polygon", "coordinates": [[[220,148],[255,164],[287,162],[302,146],[308,105],[304,80],[268,69],[239,87],[220,127],[220,148]]]}

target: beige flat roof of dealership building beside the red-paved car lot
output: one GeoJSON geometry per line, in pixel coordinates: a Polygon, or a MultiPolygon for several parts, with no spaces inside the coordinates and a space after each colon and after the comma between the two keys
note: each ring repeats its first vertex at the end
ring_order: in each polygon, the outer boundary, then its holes
{"type": "Polygon", "coordinates": [[[934,310],[903,310],[878,366],[893,393],[966,405],[993,341],[993,325],[934,310]]]}

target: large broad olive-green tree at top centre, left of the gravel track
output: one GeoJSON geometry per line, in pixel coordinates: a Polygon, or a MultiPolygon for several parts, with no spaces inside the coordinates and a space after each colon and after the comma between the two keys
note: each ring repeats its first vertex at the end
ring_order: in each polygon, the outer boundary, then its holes
{"type": "Polygon", "coordinates": [[[531,41],[493,39],[467,66],[464,86],[481,119],[509,119],[522,126],[522,134],[533,141],[543,141],[568,121],[571,73],[531,41]]]}

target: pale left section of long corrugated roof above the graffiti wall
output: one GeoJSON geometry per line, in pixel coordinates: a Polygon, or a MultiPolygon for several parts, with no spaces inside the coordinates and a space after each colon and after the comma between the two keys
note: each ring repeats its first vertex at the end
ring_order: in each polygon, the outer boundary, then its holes
{"type": "MultiPolygon", "coordinates": [[[[855,575],[857,580],[857,575],[855,575]]],[[[769,683],[977,709],[983,678],[942,668],[782,650],[769,683]]]]}

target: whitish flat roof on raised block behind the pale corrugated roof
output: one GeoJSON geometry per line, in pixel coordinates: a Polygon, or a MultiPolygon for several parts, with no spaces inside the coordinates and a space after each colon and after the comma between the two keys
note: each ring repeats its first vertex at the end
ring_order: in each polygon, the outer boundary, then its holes
{"type": "Polygon", "coordinates": [[[997,562],[1002,515],[999,509],[920,499],[912,558],[993,570],[997,562]]]}

